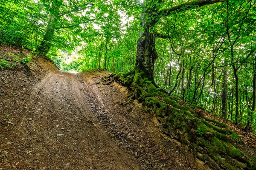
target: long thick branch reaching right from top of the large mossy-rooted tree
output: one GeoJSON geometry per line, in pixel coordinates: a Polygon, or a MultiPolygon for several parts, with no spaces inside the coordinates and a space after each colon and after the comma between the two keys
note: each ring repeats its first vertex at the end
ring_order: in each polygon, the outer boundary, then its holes
{"type": "Polygon", "coordinates": [[[226,0],[197,0],[197,1],[192,1],[192,2],[187,2],[187,3],[183,3],[180,4],[178,6],[174,6],[172,8],[168,8],[168,9],[163,9],[161,11],[158,12],[158,14],[165,14],[170,15],[172,14],[172,12],[175,12],[179,9],[182,9],[183,7],[185,7],[186,9],[191,9],[193,6],[196,6],[196,8],[201,7],[201,6],[205,6],[205,5],[210,5],[210,4],[214,4],[214,3],[222,3],[226,0]]]}

